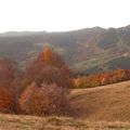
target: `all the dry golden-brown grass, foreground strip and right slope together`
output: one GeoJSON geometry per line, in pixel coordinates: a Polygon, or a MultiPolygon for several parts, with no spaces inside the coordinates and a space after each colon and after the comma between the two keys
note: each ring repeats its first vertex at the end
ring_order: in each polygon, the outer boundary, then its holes
{"type": "Polygon", "coordinates": [[[130,129],[130,81],[73,90],[72,105],[73,118],[0,114],[0,130],[130,129]]]}

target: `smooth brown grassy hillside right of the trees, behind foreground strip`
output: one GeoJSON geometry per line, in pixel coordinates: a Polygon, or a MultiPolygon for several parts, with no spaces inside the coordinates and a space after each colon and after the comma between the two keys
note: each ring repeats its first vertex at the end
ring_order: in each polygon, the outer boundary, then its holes
{"type": "Polygon", "coordinates": [[[96,121],[130,121],[130,81],[93,89],[76,89],[72,104],[78,118],[96,121]]]}

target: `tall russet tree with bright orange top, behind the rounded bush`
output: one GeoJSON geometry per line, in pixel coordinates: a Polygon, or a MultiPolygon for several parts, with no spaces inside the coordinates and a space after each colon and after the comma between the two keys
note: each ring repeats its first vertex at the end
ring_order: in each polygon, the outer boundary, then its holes
{"type": "Polygon", "coordinates": [[[51,49],[46,48],[37,58],[32,60],[25,72],[24,86],[36,82],[40,86],[42,82],[56,83],[63,88],[70,88],[70,69],[65,64],[63,57],[51,49]]]}

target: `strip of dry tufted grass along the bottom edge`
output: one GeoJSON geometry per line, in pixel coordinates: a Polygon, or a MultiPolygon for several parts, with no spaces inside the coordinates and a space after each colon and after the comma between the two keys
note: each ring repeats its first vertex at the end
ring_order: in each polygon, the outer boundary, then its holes
{"type": "Polygon", "coordinates": [[[83,121],[68,117],[0,115],[0,130],[129,130],[129,122],[83,121]]]}

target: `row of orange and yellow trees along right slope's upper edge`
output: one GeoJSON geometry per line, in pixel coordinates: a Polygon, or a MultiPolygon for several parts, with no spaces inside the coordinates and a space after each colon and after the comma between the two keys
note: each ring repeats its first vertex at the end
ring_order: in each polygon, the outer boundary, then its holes
{"type": "Polygon", "coordinates": [[[130,79],[130,70],[117,69],[112,73],[82,76],[74,79],[75,88],[92,88],[126,81],[130,79]]]}

